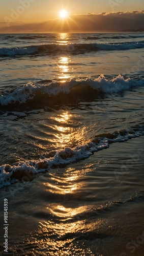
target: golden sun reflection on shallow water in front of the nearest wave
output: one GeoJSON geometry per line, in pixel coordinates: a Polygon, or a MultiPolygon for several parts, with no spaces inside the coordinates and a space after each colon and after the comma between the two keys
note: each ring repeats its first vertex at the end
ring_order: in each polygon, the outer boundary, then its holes
{"type": "Polygon", "coordinates": [[[77,243],[80,237],[86,241],[89,233],[97,235],[105,224],[101,219],[93,223],[87,220],[94,206],[85,203],[80,195],[82,189],[87,187],[87,180],[83,177],[91,172],[91,167],[87,164],[83,169],[68,167],[63,172],[53,170],[49,180],[43,183],[51,200],[44,207],[48,219],[39,221],[38,237],[43,238],[39,247],[47,247],[50,255],[94,255],[89,246],[77,243]]]}

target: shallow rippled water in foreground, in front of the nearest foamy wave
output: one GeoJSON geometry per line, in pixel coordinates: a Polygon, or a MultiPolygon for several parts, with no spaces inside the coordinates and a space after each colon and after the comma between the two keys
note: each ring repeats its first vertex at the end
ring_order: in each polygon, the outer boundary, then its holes
{"type": "Polygon", "coordinates": [[[3,189],[14,255],[131,255],[131,241],[142,255],[143,150],[141,138],[114,143],[3,189]]]}

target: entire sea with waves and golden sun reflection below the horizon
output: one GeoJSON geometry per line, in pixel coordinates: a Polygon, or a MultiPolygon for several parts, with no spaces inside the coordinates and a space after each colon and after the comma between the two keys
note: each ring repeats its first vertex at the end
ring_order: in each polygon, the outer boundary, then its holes
{"type": "Polygon", "coordinates": [[[0,34],[2,253],[144,255],[143,48],[144,32],[0,34]]]}

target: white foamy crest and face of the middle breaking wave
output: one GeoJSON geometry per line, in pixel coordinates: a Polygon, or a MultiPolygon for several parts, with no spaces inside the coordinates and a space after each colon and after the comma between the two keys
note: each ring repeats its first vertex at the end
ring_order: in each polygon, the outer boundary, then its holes
{"type": "MultiPolygon", "coordinates": [[[[13,92],[3,92],[0,94],[0,104],[8,105],[12,103],[25,103],[27,100],[33,100],[36,94],[41,95],[59,95],[60,93],[70,94],[74,88],[81,89],[84,86],[103,93],[119,93],[124,90],[131,88],[144,86],[144,79],[124,79],[123,76],[119,75],[113,79],[106,79],[104,75],[99,76],[96,79],[71,79],[66,82],[53,82],[40,86],[39,84],[33,84],[28,82],[25,86],[20,87],[13,92]]],[[[76,93],[76,91],[75,91],[76,93]]]]}

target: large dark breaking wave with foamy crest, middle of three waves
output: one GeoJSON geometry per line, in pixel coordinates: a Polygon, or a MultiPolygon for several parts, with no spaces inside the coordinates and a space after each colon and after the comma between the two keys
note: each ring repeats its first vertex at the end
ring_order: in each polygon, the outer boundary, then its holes
{"type": "Polygon", "coordinates": [[[32,82],[28,82],[23,87],[15,89],[14,91],[1,92],[1,107],[24,103],[30,103],[30,105],[32,105],[32,103],[35,104],[39,101],[42,102],[44,98],[46,98],[48,103],[48,100],[53,100],[53,97],[55,100],[59,100],[61,98],[64,102],[65,95],[66,98],[70,96],[69,100],[72,100],[73,98],[76,98],[76,96],[78,96],[78,98],[82,98],[83,94],[89,95],[89,98],[91,98],[91,94],[94,95],[94,92],[96,92],[96,94],[98,94],[98,92],[108,94],[120,93],[125,90],[130,90],[131,88],[144,86],[144,79],[125,79],[121,75],[113,79],[106,79],[104,75],[100,75],[96,79],[89,77],[86,79],[70,79],[65,82],[49,82],[49,84],[43,85],[39,83],[33,84],[32,82]]]}

